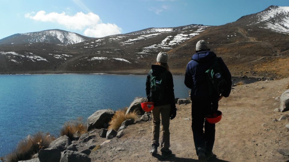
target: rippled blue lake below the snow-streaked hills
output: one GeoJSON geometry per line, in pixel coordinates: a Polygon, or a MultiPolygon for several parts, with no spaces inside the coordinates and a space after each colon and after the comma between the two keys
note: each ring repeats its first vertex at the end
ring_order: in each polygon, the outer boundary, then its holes
{"type": "MultiPolygon", "coordinates": [[[[173,76],[175,97],[187,98],[184,76],[173,76]]],[[[38,131],[58,136],[62,125],[95,111],[129,107],[145,97],[145,75],[0,75],[0,157],[38,131]]]]}

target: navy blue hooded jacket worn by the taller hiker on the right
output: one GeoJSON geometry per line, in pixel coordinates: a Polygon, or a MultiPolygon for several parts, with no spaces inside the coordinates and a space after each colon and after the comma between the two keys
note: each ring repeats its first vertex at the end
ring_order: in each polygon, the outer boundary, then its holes
{"type": "MultiPolygon", "coordinates": [[[[216,54],[212,51],[202,51],[192,56],[192,60],[188,63],[185,74],[185,85],[191,88],[191,99],[212,97],[208,95],[209,87],[205,71],[213,65],[215,57],[216,54]]],[[[227,82],[227,87],[225,91],[222,92],[222,95],[228,97],[232,87],[232,76],[222,58],[218,58],[218,60],[224,73],[224,79],[227,82]]],[[[213,96],[218,97],[217,94],[213,94],[213,96]]]]}

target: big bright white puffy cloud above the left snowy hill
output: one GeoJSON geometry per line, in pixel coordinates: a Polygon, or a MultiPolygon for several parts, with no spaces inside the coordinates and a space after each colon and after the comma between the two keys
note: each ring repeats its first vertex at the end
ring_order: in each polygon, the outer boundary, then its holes
{"type": "Polygon", "coordinates": [[[87,14],[78,12],[75,15],[70,16],[65,12],[46,13],[41,10],[36,14],[35,12],[26,13],[25,17],[42,22],[56,22],[64,25],[67,29],[85,30],[84,34],[89,37],[104,37],[121,33],[120,27],[115,24],[102,23],[100,17],[92,12],[87,14]]]}

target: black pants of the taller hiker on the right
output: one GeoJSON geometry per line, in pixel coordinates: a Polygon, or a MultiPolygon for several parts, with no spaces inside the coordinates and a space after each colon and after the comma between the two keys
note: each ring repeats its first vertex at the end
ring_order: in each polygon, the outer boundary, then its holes
{"type": "Polygon", "coordinates": [[[192,131],[197,155],[200,151],[207,154],[213,150],[215,124],[205,120],[205,116],[213,110],[218,110],[218,98],[192,99],[192,131]]]}

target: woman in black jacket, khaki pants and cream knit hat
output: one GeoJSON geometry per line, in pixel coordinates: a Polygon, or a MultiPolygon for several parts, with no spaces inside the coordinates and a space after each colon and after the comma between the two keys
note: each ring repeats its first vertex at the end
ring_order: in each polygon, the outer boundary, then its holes
{"type": "Polygon", "coordinates": [[[169,72],[169,66],[167,64],[168,55],[166,52],[160,52],[157,55],[157,63],[151,66],[151,70],[148,73],[146,80],[146,94],[149,102],[154,102],[154,109],[151,110],[153,118],[152,137],[151,137],[151,154],[157,153],[157,147],[159,144],[160,136],[160,121],[162,122],[162,140],[161,149],[162,158],[167,158],[172,155],[172,151],[169,149],[169,119],[176,117],[176,104],[174,95],[174,83],[172,79],[172,73],[169,72]],[[151,97],[151,79],[153,76],[164,76],[164,89],[163,97],[160,101],[154,101],[151,97]],[[161,115],[161,120],[160,120],[161,115]]]}

